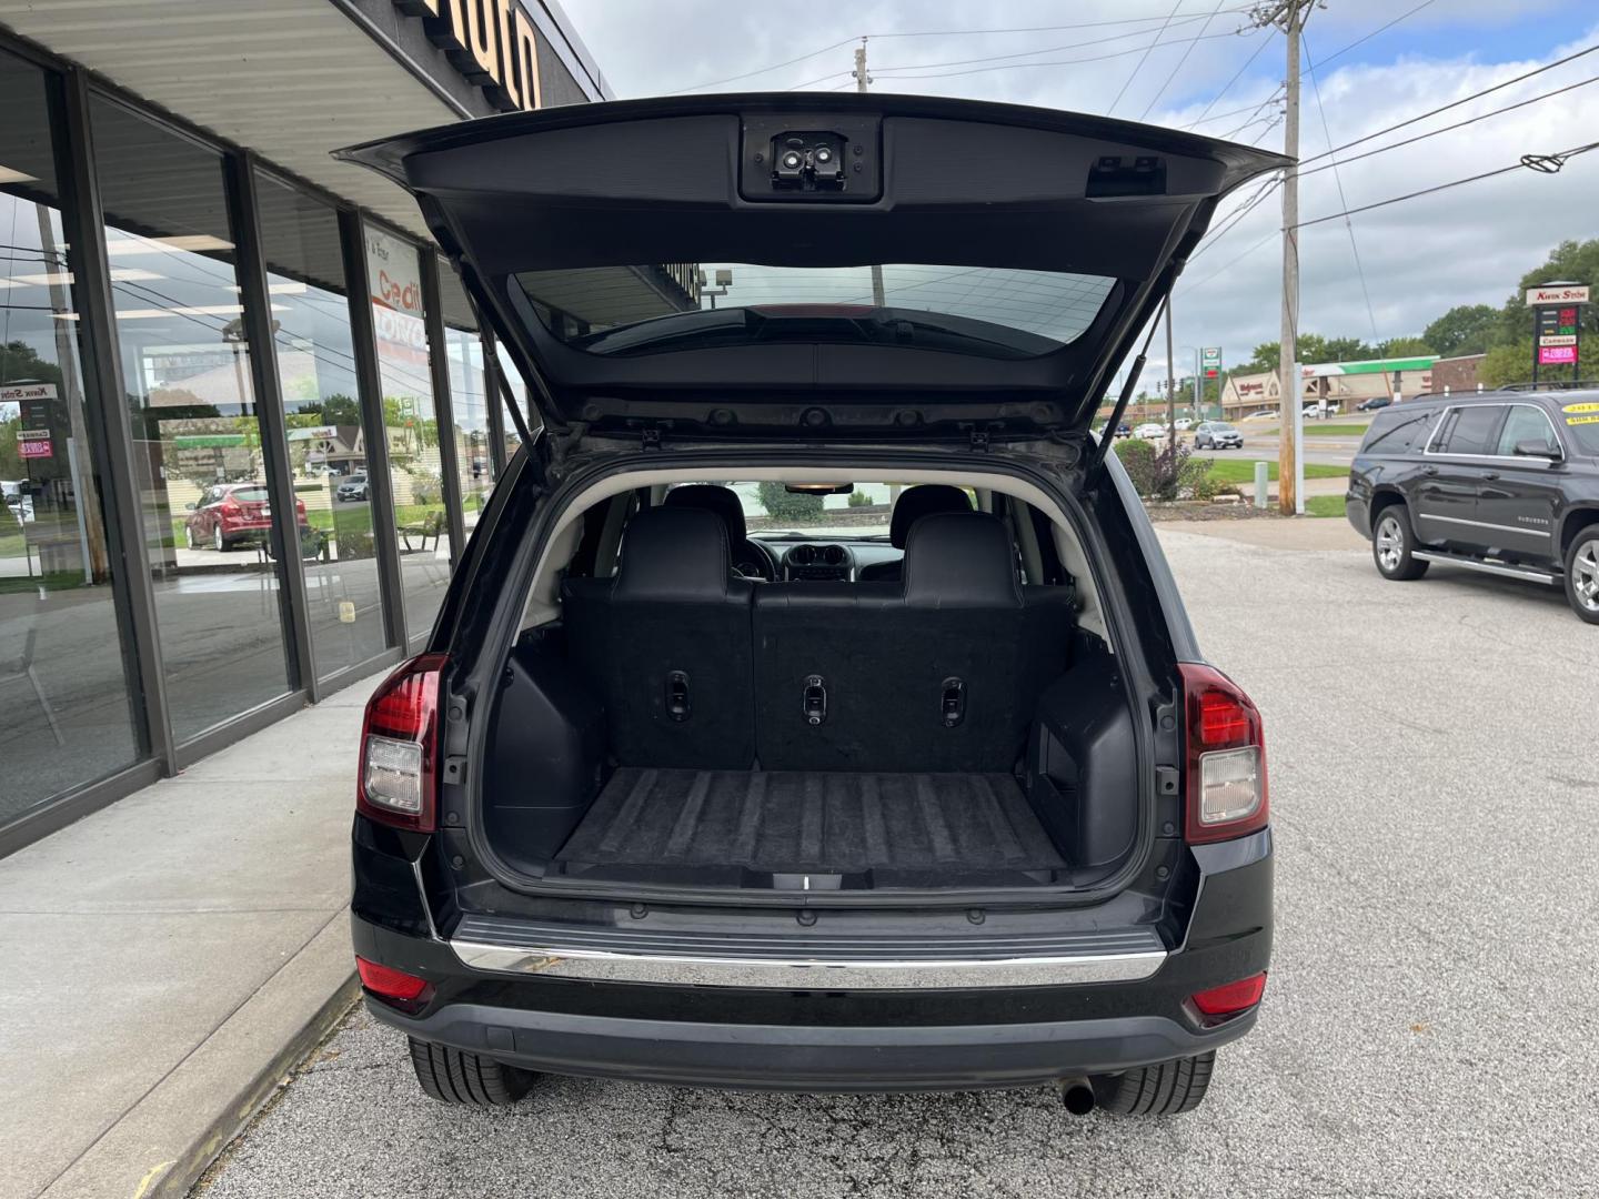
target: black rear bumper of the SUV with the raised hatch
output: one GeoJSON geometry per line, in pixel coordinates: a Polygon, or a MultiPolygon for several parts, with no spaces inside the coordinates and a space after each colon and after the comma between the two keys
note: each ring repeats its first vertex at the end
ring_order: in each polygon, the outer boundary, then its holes
{"type": "MultiPolygon", "coordinates": [[[[422,1041],[556,1074],[790,1090],[1007,1087],[1115,1074],[1247,1033],[1254,1010],[1207,1023],[1190,996],[1265,970],[1271,956],[1270,830],[1183,849],[1186,860],[1166,903],[1170,918],[1158,926],[1158,967],[1059,985],[1009,985],[1009,978],[951,985],[932,972],[921,983],[886,988],[852,982],[867,974],[855,969],[859,962],[790,970],[787,985],[772,977],[752,985],[758,972],[750,962],[726,956],[692,962],[676,978],[684,962],[651,975],[635,959],[609,977],[596,974],[592,959],[564,977],[536,961],[473,969],[461,954],[469,942],[448,940],[472,927],[470,918],[451,916],[435,927],[416,886],[430,871],[384,852],[406,842],[425,857],[413,838],[357,838],[352,930],[361,958],[427,978],[433,994],[416,1012],[374,996],[369,1009],[422,1041]],[[718,969],[724,978],[716,978],[718,969]]],[[[1140,897],[1126,898],[1138,900],[1127,908],[1146,906],[1140,897]]],[[[1062,929],[1073,922],[1092,929],[1110,922],[1115,902],[1043,914],[1062,929]]],[[[707,916],[652,913],[651,919],[670,929],[673,919],[683,927],[707,916]]],[[[1006,919],[993,913],[983,927],[998,934],[1006,919]]],[[[628,926],[624,908],[619,924],[590,926],[592,940],[604,945],[606,930],[628,926]]],[[[497,940],[513,937],[505,932],[497,940]]],[[[569,953],[556,950],[563,951],[569,953]]],[[[996,962],[995,974],[1015,964],[996,962]]],[[[1071,977],[1070,969],[1060,977],[1071,977]]]]}

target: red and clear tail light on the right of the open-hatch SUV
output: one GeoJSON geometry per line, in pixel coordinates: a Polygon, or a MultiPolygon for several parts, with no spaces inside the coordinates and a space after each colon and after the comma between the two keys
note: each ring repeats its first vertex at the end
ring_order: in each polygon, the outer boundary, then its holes
{"type": "Polygon", "coordinates": [[[1188,842],[1230,841],[1265,828],[1270,812],[1260,711],[1218,670],[1193,662],[1177,670],[1186,711],[1188,842]]]}

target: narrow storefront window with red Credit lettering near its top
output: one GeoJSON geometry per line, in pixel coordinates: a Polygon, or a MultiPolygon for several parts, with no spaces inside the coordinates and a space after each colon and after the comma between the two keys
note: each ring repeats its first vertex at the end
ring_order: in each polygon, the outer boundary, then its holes
{"type": "Polygon", "coordinates": [[[432,628],[449,585],[449,521],[429,374],[422,257],[405,238],[371,224],[365,230],[406,635],[416,638],[432,628]]]}

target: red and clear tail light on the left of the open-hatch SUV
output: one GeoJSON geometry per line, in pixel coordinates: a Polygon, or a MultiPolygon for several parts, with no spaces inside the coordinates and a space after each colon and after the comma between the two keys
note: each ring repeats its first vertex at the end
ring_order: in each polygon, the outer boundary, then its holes
{"type": "Polygon", "coordinates": [[[355,809],[432,833],[438,804],[438,683],[443,654],[400,665],[366,702],[355,809]]]}

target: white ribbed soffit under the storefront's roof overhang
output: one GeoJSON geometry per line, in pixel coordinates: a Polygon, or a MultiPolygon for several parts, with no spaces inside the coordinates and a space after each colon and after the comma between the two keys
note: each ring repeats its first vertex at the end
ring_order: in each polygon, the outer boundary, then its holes
{"type": "Polygon", "coordinates": [[[427,237],[411,197],[328,152],[461,117],[331,0],[0,0],[0,24],[427,237]]]}

